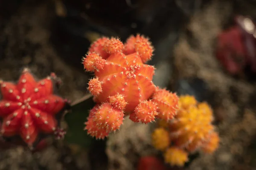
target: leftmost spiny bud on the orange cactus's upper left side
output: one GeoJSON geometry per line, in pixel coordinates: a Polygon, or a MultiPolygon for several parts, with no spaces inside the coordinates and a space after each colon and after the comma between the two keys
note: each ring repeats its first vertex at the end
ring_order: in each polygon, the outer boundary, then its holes
{"type": "Polygon", "coordinates": [[[99,71],[104,68],[106,60],[96,53],[89,53],[82,58],[84,69],[86,71],[99,71]]]}

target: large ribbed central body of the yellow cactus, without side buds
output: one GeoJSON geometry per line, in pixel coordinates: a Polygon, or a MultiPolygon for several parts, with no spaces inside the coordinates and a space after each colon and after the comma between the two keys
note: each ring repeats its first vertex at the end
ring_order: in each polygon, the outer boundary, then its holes
{"type": "Polygon", "coordinates": [[[170,125],[171,136],[175,138],[174,142],[178,147],[195,151],[214,130],[212,119],[209,118],[212,115],[207,113],[208,116],[205,116],[202,113],[196,106],[178,111],[176,119],[170,125]]]}

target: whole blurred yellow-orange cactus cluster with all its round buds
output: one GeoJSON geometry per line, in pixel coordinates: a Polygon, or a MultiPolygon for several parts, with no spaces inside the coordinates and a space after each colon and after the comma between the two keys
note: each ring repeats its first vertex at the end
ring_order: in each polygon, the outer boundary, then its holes
{"type": "Polygon", "coordinates": [[[152,144],[164,152],[166,163],[183,166],[189,153],[202,150],[212,153],[219,144],[218,133],[212,125],[212,109],[194,96],[180,96],[179,110],[173,119],[159,121],[152,133],[152,144]]]}

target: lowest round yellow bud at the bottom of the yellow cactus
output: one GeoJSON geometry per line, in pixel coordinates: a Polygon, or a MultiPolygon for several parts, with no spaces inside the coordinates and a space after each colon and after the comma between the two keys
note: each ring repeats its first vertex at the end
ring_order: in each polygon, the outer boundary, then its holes
{"type": "Polygon", "coordinates": [[[188,159],[188,153],[176,147],[170,147],[164,154],[164,160],[171,166],[183,167],[188,159]]]}

